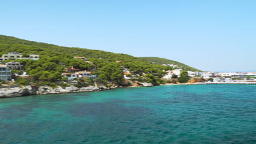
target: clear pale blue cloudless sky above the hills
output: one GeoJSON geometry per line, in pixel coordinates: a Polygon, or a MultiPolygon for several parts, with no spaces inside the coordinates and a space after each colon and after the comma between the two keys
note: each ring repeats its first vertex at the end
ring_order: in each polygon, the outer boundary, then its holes
{"type": "MultiPolygon", "coordinates": [[[[0,34],[201,70],[256,70],[256,1],[1,1],[0,34]]],[[[85,56],[86,57],[86,56],[85,56]]]]}

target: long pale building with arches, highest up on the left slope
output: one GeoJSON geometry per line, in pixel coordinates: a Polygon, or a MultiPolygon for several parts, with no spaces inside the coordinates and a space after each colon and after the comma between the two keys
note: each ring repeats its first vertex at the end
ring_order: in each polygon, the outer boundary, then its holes
{"type": "Polygon", "coordinates": [[[16,59],[32,59],[32,60],[38,60],[39,59],[39,55],[34,55],[34,54],[30,54],[29,57],[24,57],[21,53],[19,52],[9,52],[8,54],[4,54],[2,55],[2,57],[0,58],[0,61],[5,61],[5,60],[16,60],[16,59]]]}

